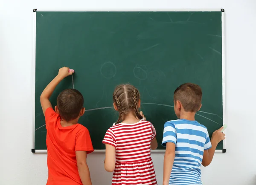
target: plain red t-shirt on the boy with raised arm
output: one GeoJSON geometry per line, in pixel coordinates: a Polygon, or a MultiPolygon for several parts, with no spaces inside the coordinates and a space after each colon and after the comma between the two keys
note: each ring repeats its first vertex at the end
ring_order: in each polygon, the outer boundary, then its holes
{"type": "Polygon", "coordinates": [[[90,133],[81,124],[61,126],[61,117],[52,108],[45,112],[48,180],[47,185],[82,185],[76,151],[93,152],[90,133]]]}

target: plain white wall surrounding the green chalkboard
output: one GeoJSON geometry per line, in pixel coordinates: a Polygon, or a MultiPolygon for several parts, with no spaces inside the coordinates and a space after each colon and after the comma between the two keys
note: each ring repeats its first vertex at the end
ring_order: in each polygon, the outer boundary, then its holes
{"type": "MultiPolygon", "coordinates": [[[[212,164],[203,168],[202,179],[204,185],[256,185],[256,1],[157,1],[0,0],[1,185],[45,185],[47,181],[47,155],[31,153],[34,8],[224,8],[227,153],[215,155],[212,164]]],[[[163,154],[152,157],[161,184],[163,154]]],[[[93,185],[111,182],[103,160],[104,155],[99,153],[88,157],[93,185]]]]}

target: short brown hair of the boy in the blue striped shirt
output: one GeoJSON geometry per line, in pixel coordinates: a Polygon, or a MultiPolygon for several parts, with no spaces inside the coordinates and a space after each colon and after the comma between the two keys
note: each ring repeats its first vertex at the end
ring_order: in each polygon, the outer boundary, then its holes
{"type": "Polygon", "coordinates": [[[180,101],[186,112],[196,113],[202,102],[202,89],[199,85],[186,83],[174,92],[174,101],[180,101]]]}

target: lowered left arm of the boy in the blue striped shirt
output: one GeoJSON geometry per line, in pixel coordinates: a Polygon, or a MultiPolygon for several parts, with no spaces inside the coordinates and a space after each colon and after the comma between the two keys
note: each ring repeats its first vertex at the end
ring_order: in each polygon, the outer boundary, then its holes
{"type": "Polygon", "coordinates": [[[175,143],[166,143],[166,152],[163,159],[163,185],[169,185],[172,166],[175,158],[175,143]]]}

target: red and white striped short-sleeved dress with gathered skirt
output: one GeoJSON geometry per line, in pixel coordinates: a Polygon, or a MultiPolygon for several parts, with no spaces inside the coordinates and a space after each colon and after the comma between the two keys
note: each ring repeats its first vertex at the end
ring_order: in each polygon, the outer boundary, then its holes
{"type": "Polygon", "coordinates": [[[104,144],[116,147],[116,168],[112,185],[157,185],[150,154],[156,130],[149,121],[119,123],[110,127],[104,144]]]}

